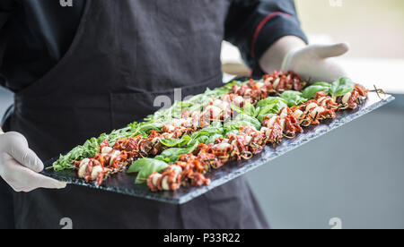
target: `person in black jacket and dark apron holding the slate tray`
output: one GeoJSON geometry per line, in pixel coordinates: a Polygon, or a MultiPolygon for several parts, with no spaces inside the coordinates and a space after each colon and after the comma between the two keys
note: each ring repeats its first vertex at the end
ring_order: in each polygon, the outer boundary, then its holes
{"type": "Polygon", "coordinates": [[[66,217],[75,228],[267,228],[244,178],[178,206],[40,175],[42,161],[154,113],[158,96],[220,87],[224,39],[255,76],[344,75],[330,57],[347,45],[308,45],[293,0],[2,0],[0,85],[15,96],[0,134],[0,228],[66,217]]]}

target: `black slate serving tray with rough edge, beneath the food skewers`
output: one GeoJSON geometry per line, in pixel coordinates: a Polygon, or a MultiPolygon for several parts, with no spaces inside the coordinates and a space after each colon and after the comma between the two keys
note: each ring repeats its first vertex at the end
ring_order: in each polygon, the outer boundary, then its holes
{"type": "MultiPolygon", "coordinates": [[[[151,192],[145,184],[136,185],[134,175],[127,175],[126,173],[120,173],[118,175],[112,175],[107,179],[101,186],[94,183],[84,183],[82,179],[77,178],[74,171],[66,170],[62,172],[54,172],[53,170],[45,169],[42,173],[49,177],[55,178],[59,181],[74,183],[78,185],[83,185],[91,187],[98,190],[117,192],[121,194],[126,194],[129,196],[142,197],[149,200],[159,200],[167,203],[183,204],[189,200],[193,200],[198,196],[209,192],[217,186],[227,183],[234,178],[246,174],[247,172],[255,169],[259,166],[265,165],[268,161],[277,158],[286,152],[296,149],[303,144],[312,141],[321,135],[332,131],[344,124],[348,124],[352,120],[358,118],[359,116],[365,115],[389,102],[394,100],[390,95],[381,95],[382,98],[371,92],[369,93],[369,98],[364,102],[362,106],[359,106],[356,110],[346,110],[338,114],[338,117],[334,120],[329,120],[321,123],[318,126],[311,126],[304,129],[304,132],[299,134],[297,138],[292,140],[284,139],[277,148],[266,147],[263,152],[256,155],[250,160],[244,160],[239,162],[232,162],[226,164],[222,168],[213,171],[207,177],[212,180],[206,187],[201,188],[184,188],[181,187],[180,190],[176,192],[151,192]]],[[[56,161],[57,158],[49,160],[46,162],[45,166],[52,166],[52,163],[56,161]]]]}

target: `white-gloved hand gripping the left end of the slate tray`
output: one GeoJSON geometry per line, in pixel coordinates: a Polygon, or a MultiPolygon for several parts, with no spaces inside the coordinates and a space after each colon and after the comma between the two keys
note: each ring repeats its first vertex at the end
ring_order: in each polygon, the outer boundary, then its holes
{"type": "Polygon", "coordinates": [[[28,141],[18,132],[4,133],[0,129],[0,176],[15,192],[31,192],[38,188],[63,189],[66,183],[39,173],[40,158],[28,147],[28,141]]]}

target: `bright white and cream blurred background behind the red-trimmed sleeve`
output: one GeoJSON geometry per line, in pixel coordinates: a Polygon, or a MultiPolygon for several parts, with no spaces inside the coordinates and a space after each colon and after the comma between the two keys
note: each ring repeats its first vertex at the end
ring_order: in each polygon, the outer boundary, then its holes
{"type": "MultiPolygon", "coordinates": [[[[390,92],[404,93],[399,72],[404,68],[404,1],[295,0],[310,43],[348,42],[344,55],[352,79],[390,92]]],[[[224,72],[249,75],[236,47],[224,42],[224,72]]]]}

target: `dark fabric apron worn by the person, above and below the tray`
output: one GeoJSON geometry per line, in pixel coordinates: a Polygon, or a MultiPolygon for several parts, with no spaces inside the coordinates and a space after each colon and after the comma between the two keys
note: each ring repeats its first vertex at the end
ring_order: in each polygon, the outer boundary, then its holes
{"type": "MultiPolygon", "coordinates": [[[[8,130],[46,160],[152,114],[154,98],[221,86],[227,0],[87,0],[74,42],[17,93],[8,130]]],[[[178,206],[82,186],[14,193],[17,228],[266,228],[241,178],[178,206]]]]}

